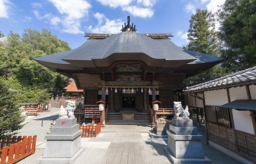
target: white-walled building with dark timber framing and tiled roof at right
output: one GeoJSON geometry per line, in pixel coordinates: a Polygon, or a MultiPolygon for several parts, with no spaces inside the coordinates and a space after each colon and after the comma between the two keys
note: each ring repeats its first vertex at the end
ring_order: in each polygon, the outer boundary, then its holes
{"type": "Polygon", "coordinates": [[[185,105],[203,109],[207,142],[243,163],[256,162],[256,67],[187,87],[185,105]]]}

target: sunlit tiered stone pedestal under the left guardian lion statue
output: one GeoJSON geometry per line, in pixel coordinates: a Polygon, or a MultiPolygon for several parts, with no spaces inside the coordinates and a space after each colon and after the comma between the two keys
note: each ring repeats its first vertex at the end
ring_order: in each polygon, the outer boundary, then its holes
{"type": "Polygon", "coordinates": [[[36,163],[64,164],[73,163],[85,150],[81,147],[81,134],[77,118],[56,119],[55,127],[46,135],[46,147],[43,156],[36,163]]]}

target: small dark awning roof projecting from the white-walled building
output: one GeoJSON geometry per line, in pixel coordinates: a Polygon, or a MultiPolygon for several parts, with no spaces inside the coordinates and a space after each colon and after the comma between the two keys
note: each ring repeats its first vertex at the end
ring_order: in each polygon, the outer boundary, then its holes
{"type": "Polygon", "coordinates": [[[256,110],[256,99],[237,99],[231,103],[226,103],[222,108],[231,108],[231,109],[248,109],[256,110]]]}

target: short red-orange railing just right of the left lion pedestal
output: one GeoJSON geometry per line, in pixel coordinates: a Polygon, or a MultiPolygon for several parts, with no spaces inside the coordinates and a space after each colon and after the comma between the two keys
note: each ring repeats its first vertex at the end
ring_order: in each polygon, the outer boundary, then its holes
{"type": "Polygon", "coordinates": [[[97,137],[101,133],[101,122],[98,125],[85,125],[79,126],[79,129],[82,130],[81,137],[97,137]]]}

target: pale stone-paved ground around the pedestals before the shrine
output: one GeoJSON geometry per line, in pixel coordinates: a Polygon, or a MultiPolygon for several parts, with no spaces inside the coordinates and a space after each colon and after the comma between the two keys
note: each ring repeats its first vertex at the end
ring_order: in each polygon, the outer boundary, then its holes
{"type": "MultiPolygon", "coordinates": [[[[44,136],[58,112],[59,109],[49,113],[42,113],[42,115],[30,119],[30,123],[21,129],[21,135],[37,134],[37,147],[34,155],[27,156],[27,158],[17,162],[18,164],[34,164],[35,160],[43,155],[46,145],[44,136]],[[42,120],[43,127],[41,127],[42,120]]],[[[196,126],[196,123],[194,123],[194,126],[196,126]]],[[[202,146],[205,156],[211,159],[213,164],[241,163],[210,145],[206,145],[204,126],[197,128],[203,135],[202,146]]],[[[150,138],[148,133],[150,129],[147,126],[111,125],[101,129],[101,134],[96,138],[83,137],[82,147],[85,147],[85,151],[74,164],[171,163],[163,149],[168,140],[150,138]]]]}

